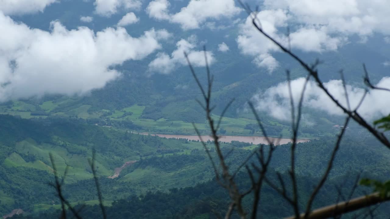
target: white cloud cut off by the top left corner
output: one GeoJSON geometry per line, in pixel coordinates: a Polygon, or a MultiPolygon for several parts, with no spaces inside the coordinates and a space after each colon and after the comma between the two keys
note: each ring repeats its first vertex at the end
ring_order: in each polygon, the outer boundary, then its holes
{"type": "Polygon", "coordinates": [[[1,0],[0,11],[5,15],[31,14],[43,12],[50,4],[57,0],[1,0]]]}

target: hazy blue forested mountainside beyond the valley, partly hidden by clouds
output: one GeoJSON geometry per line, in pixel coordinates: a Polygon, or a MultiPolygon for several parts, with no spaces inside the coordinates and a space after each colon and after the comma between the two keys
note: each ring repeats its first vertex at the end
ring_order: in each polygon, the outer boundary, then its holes
{"type": "MultiPolygon", "coordinates": [[[[186,6],[186,2],[174,1],[170,2],[169,5],[172,13],[176,13],[180,11],[178,9],[186,6]]],[[[243,124],[237,127],[238,129],[234,130],[234,133],[247,135],[249,132],[243,130],[243,128],[245,125],[254,124],[255,121],[242,119],[253,118],[247,113],[246,102],[251,100],[256,103],[254,97],[258,94],[267,94],[267,89],[284,82],[286,80],[286,69],[291,72],[292,80],[305,76],[303,69],[297,62],[279,53],[278,50],[273,53],[273,56],[278,60],[278,67],[272,72],[269,72],[267,68],[259,68],[255,64],[253,57],[246,54],[243,45],[239,41],[240,37],[249,37],[248,39],[253,37],[250,35],[251,33],[245,32],[246,26],[243,22],[247,18],[247,14],[244,11],[238,12],[234,21],[228,16],[226,19],[219,20],[218,23],[209,22],[200,29],[183,31],[176,23],[163,22],[151,17],[147,10],[136,11],[139,22],[124,27],[115,27],[122,15],[126,14],[126,11],[118,8],[117,12],[110,16],[99,16],[94,11],[96,10],[94,9],[95,6],[96,4],[92,1],[61,1],[48,5],[43,12],[23,16],[11,15],[11,19],[23,22],[30,28],[40,28],[48,33],[52,31],[52,35],[55,32],[50,28],[50,22],[56,21],[60,22],[67,31],[73,30],[74,33],[80,26],[89,28],[95,34],[101,33],[101,35],[117,28],[117,31],[126,31],[129,37],[139,37],[145,31],[154,28],[155,30],[166,30],[169,33],[169,38],[160,40],[158,42],[160,48],[157,46],[157,49],[149,55],[141,58],[129,58],[128,60],[124,58],[119,62],[114,61],[115,63],[110,65],[109,68],[115,69],[120,74],[118,77],[105,81],[105,86],[99,85],[99,88],[92,88],[88,92],[83,92],[82,95],[77,95],[80,92],[73,92],[71,87],[74,85],[69,84],[66,88],[69,91],[65,92],[67,95],[56,94],[57,92],[44,92],[46,95],[37,93],[37,95],[31,95],[19,101],[11,98],[11,102],[2,103],[0,108],[2,113],[20,115],[23,118],[50,115],[59,117],[77,116],[85,119],[130,120],[139,125],[143,131],[164,134],[168,132],[195,134],[191,129],[191,123],[202,124],[205,122],[205,118],[202,108],[195,101],[195,99],[201,98],[199,88],[197,88],[195,80],[191,76],[190,69],[182,53],[188,50],[188,52],[194,54],[193,56],[196,54],[198,62],[198,59],[203,59],[202,45],[206,45],[207,51],[213,54],[213,62],[211,62],[210,68],[215,76],[213,102],[216,109],[214,113],[219,115],[224,106],[234,98],[235,101],[227,111],[226,116],[228,118],[238,118],[243,124]],[[74,10],[75,8],[77,10],[74,10]],[[91,16],[93,19],[91,22],[85,23],[80,21],[81,16],[91,16]],[[218,24],[219,26],[210,26],[212,24],[218,24]],[[229,50],[219,50],[219,45],[222,42],[227,45],[229,50]],[[160,69],[151,69],[151,66],[153,66],[151,63],[159,60],[159,54],[167,54],[170,57],[167,61],[169,60],[172,66],[169,65],[168,68],[164,67],[165,65],[160,65],[160,69]],[[130,113],[133,113],[133,116],[130,116],[130,113]],[[172,130],[168,125],[172,122],[181,124],[181,129],[172,130]],[[161,128],[151,129],[151,127],[156,126],[161,128]],[[189,128],[183,130],[183,127],[189,128]]],[[[294,30],[299,30],[299,26],[293,23],[290,31],[293,32],[294,30]]],[[[283,33],[284,27],[280,26],[278,32],[283,33]]],[[[95,36],[95,40],[98,40],[98,36],[95,36]]],[[[321,53],[317,53],[316,51],[305,52],[296,49],[296,53],[309,63],[313,63],[316,58],[323,62],[318,66],[318,71],[324,82],[339,80],[339,71],[342,69],[346,82],[355,90],[365,87],[362,79],[362,63],[367,65],[373,83],[378,83],[388,75],[388,67],[385,63],[389,54],[388,50],[383,49],[387,46],[383,41],[383,35],[374,34],[364,43],[356,36],[351,36],[348,40],[347,43],[340,44],[337,50],[321,49],[321,53]]],[[[115,50],[110,52],[115,53],[115,50]]],[[[117,52],[122,53],[119,50],[117,52]]],[[[194,65],[200,80],[204,82],[206,80],[203,73],[205,68],[201,67],[200,61],[199,63],[194,61],[194,65]]],[[[66,68],[66,66],[64,67],[66,68]]],[[[74,78],[74,81],[78,80],[81,80],[81,78],[74,78]]],[[[52,83],[58,82],[53,81],[52,83]]],[[[80,83],[83,82],[80,81],[80,83]]],[[[47,86],[50,86],[50,82],[47,86]]],[[[333,91],[335,94],[341,92],[337,89],[341,88],[335,88],[333,91]]],[[[352,90],[351,92],[353,93],[352,90]]],[[[259,109],[262,109],[261,106],[259,106],[259,109]]],[[[311,120],[307,124],[317,124],[314,121],[315,118],[312,117],[316,117],[318,110],[321,111],[317,108],[308,108],[307,111],[304,111],[307,118],[311,120]]],[[[331,109],[322,110],[327,112],[322,114],[323,120],[332,121],[335,113],[331,109]]],[[[373,109],[373,111],[377,113],[380,110],[373,109]]],[[[264,109],[263,114],[265,122],[285,122],[285,119],[281,120],[275,117],[269,110],[264,109]]],[[[368,114],[372,114],[372,112],[370,111],[368,114]]],[[[337,113],[337,115],[340,114],[337,113]]],[[[333,120],[330,125],[335,124],[337,123],[333,120]]],[[[223,128],[227,130],[228,134],[234,134],[232,132],[233,127],[234,124],[227,124],[223,128]]],[[[319,127],[313,128],[319,129],[319,127]]],[[[305,134],[308,136],[308,133],[305,134]]],[[[284,135],[287,136],[287,132],[284,135]]]]}

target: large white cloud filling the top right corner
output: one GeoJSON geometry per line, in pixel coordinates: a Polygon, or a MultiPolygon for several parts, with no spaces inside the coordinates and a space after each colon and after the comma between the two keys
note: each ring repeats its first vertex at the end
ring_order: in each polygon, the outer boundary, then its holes
{"type": "Polygon", "coordinates": [[[390,34],[390,2],[366,0],[265,0],[267,9],[288,9],[291,20],[325,26],[331,33],[390,34]]]}

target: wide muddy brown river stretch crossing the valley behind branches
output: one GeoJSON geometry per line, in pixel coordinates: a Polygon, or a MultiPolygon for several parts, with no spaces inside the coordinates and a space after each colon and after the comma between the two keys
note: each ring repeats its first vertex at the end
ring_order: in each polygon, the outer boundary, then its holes
{"type": "MultiPolygon", "coordinates": [[[[148,135],[148,133],[139,133],[142,135],[148,135]]],[[[161,138],[186,138],[188,140],[200,140],[199,136],[197,135],[176,135],[176,134],[151,134],[151,136],[159,136],[161,138]]],[[[212,141],[213,138],[208,135],[202,135],[202,140],[207,141],[210,140],[212,141]]],[[[289,138],[269,138],[271,141],[278,143],[280,145],[287,144],[291,142],[292,140],[289,138]]],[[[247,143],[253,143],[255,145],[257,144],[268,144],[267,140],[265,137],[262,136],[230,136],[230,135],[222,135],[220,136],[220,141],[225,141],[225,142],[230,142],[230,141],[241,141],[241,142],[247,142],[247,143]]],[[[298,139],[297,143],[300,142],[307,142],[310,141],[308,139],[298,139]]]]}

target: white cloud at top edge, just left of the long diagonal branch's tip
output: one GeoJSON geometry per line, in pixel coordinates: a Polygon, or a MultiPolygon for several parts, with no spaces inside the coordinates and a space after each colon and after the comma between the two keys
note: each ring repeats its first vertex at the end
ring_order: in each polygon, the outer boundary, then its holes
{"type": "Polygon", "coordinates": [[[151,18],[168,20],[189,30],[200,28],[208,19],[231,18],[241,11],[234,0],[190,0],[176,14],[169,14],[169,6],[168,0],[154,0],[147,6],[146,12],[151,18]]]}

